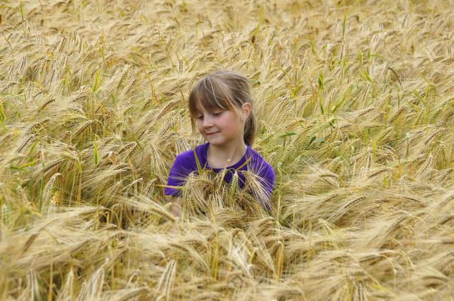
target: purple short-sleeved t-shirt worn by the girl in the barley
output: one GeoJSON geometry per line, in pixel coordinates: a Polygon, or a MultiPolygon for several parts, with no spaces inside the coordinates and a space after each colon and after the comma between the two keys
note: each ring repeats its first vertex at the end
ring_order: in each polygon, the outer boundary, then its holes
{"type": "MultiPolygon", "coordinates": [[[[204,143],[196,147],[196,154],[198,157],[198,161],[201,164],[201,167],[205,167],[206,169],[212,169],[215,172],[219,172],[222,169],[211,168],[208,164],[207,154],[208,154],[208,146],[209,143],[204,143]]],[[[224,176],[224,181],[229,183],[232,179],[233,172],[238,169],[238,185],[242,189],[246,183],[245,176],[241,171],[250,171],[253,172],[258,176],[258,180],[261,183],[263,188],[263,192],[266,194],[266,200],[262,201],[264,203],[264,207],[269,210],[271,207],[269,206],[269,198],[271,196],[271,192],[273,191],[274,185],[274,170],[268,162],[265,161],[261,157],[258,152],[253,150],[251,147],[247,146],[246,153],[243,157],[238,161],[236,164],[233,164],[230,167],[226,167],[228,170],[226,172],[226,176],[224,176]],[[251,158],[251,159],[249,159],[251,158]],[[246,164],[244,164],[248,160],[246,164]],[[243,166],[242,166],[243,165],[243,166]],[[241,167],[242,166],[242,167],[241,167]],[[241,167],[238,169],[238,167],[241,167]]],[[[175,162],[173,162],[173,166],[171,171],[168,175],[168,186],[183,186],[186,182],[186,178],[191,172],[197,171],[197,163],[196,158],[194,157],[193,149],[190,149],[186,152],[178,154],[175,158],[175,162]]],[[[251,191],[254,194],[254,191],[251,191]]],[[[181,189],[174,189],[171,187],[166,187],[164,189],[164,194],[171,195],[171,196],[181,196],[181,189]]]]}

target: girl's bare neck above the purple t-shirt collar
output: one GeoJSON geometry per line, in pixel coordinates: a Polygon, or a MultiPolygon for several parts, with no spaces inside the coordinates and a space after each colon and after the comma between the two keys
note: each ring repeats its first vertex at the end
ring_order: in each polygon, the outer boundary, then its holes
{"type": "Polygon", "coordinates": [[[232,145],[230,147],[217,147],[208,144],[208,164],[211,168],[224,168],[236,164],[246,153],[246,144],[232,145]]]}

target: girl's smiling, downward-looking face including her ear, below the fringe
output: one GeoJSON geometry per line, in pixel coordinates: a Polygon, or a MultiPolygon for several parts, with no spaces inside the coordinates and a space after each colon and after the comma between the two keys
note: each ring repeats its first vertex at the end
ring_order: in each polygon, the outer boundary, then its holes
{"type": "Polygon", "coordinates": [[[244,122],[251,112],[251,104],[244,103],[241,109],[242,118],[238,118],[233,110],[206,110],[198,107],[198,132],[217,147],[243,143],[244,122]]]}

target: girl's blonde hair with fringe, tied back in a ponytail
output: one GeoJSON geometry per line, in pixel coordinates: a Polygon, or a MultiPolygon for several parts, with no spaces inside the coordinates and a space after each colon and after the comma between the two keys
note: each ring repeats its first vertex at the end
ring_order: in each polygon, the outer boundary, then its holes
{"type": "MultiPolygon", "coordinates": [[[[252,107],[251,84],[248,78],[228,70],[209,73],[198,80],[189,94],[189,112],[193,130],[196,128],[197,104],[207,110],[233,110],[239,118],[241,106],[246,102],[250,103],[252,107]]],[[[244,125],[243,140],[244,143],[252,146],[255,138],[256,117],[251,110],[244,125]]]]}

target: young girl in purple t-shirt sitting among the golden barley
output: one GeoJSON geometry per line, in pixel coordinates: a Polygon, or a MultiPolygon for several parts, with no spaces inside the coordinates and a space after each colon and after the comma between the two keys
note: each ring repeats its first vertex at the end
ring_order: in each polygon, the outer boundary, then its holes
{"type": "Polygon", "coordinates": [[[243,171],[256,174],[261,187],[250,191],[256,200],[270,210],[274,171],[258,152],[251,148],[256,131],[248,79],[231,71],[216,71],[198,81],[189,95],[189,112],[193,130],[197,127],[205,144],[179,154],[168,176],[164,194],[173,196],[172,213],[181,215],[181,189],[198,164],[219,172],[227,169],[224,181],[230,182],[238,172],[241,189],[246,184],[243,171]],[[197,159],[196,159],[197,156],[197,159]]]}

